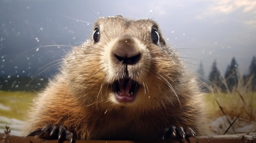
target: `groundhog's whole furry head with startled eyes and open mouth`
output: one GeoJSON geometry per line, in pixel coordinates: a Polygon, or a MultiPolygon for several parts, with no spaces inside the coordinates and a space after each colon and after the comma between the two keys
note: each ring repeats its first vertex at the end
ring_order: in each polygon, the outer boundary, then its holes
{"type": "Polygon", "coordinates": [[[66,61],[69,91],[86,106],[146,110],[178,100],[182,66],[153,20],[99,18],[66,61]]]}

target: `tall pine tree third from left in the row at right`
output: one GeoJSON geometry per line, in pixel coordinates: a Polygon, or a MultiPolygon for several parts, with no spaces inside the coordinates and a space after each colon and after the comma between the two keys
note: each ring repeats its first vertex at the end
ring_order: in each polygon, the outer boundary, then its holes
{"type": "Polygon", "coordinates": [[[229,90],[233,90],[234,86],[238,84],[238,64],[236,63],[236,59],[234,57],[231,60],[231,64],[227,66],[225,80],[229,90]]]}

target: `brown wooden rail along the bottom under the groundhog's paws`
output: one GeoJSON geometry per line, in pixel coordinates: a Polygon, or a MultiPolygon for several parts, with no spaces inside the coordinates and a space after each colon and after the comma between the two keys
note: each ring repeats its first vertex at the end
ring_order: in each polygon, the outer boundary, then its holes
{"type": "MultiPolygon", "coordinates": [[[[0,143],[58,143],[57,140],[42,140],[38,136],[29,136],[24,139],[23,136],[13,136],[0,133],[0,143]]],[[[62,143],[69,143],[63,141],[62,143]]],[[[244,134],[233,134],[223,136],[198,136],[187,139],[168,139],[165,141],[75,141],[74,143],[256,143],[256,132],[244,134]]]]}

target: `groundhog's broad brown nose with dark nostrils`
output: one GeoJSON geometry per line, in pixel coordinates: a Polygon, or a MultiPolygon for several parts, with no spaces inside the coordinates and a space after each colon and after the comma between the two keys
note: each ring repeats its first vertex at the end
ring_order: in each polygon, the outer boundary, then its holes
{"type": "Polygon", "coordinates": [[[139,47],[132,38],[118,40],[112,48],[112,59],[122,64],[136,64],[141,59],[139,47]]]}

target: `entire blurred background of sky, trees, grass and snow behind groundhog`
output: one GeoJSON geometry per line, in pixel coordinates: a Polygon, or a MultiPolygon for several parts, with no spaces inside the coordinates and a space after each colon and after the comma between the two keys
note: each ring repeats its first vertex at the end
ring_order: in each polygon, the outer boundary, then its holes
{"type": "Polygon", "coordinates": [[[0,132],[21,134],[33,97],[58,72],[53,61],[115,15],[157,21],[207,93],[212,134],[233,121],[229,133],[256,131],[255,0],[0,0],[0,132]]]}

